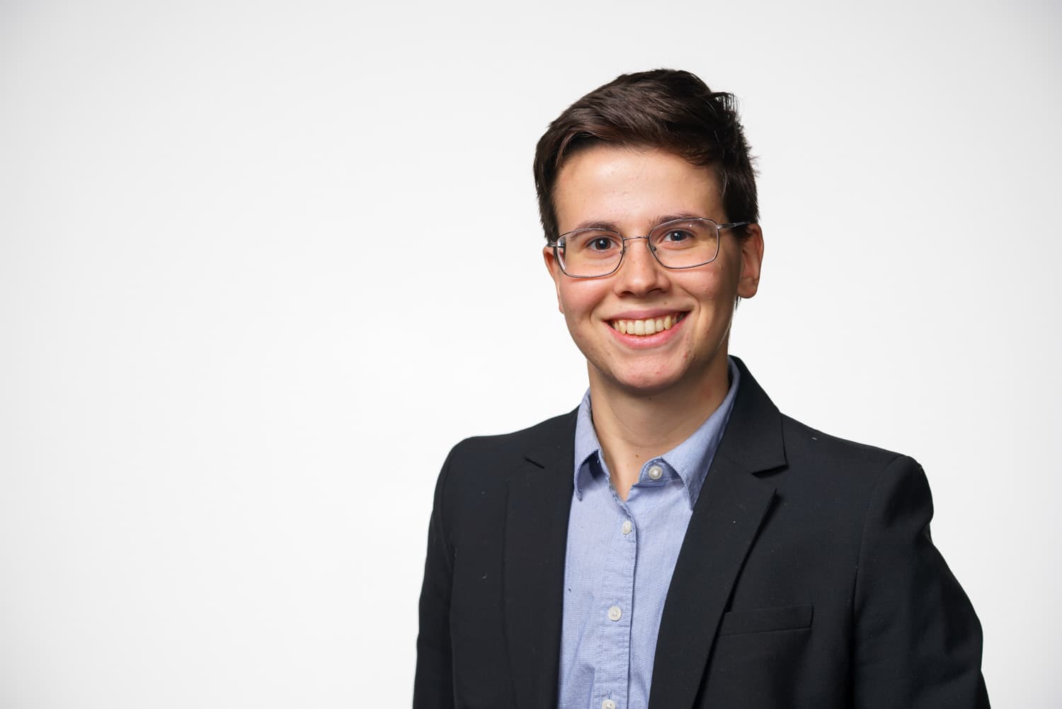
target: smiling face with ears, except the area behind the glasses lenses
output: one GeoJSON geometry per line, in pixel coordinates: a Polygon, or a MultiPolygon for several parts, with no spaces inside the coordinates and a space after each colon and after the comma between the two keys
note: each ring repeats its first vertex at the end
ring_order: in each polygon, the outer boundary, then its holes
{"type": "MultiPolygon", "coordinates": [[[[714,171],[660,150],[612,146],[587,148],[565,163],[554,206],[562,234],[611,223],[623,236],[644,236],[671,216],[729,221],[714,171]]],[[[764,239],[758,225],[750,230],[747,239],[722,230],[714,261],[678,271],[661,266],[645,239],[627,241],[619,270],[601,278],[571,278],[552,249],[543,251],[568,331],[586,356],[592,391],[654,395],[725,387],[734,299],[752,298],[759,283],[764,239]],[[653,326],[645,327],[650,319],[653,326]],[[632,334],[662,324],[651,335],[632,334]]]]}

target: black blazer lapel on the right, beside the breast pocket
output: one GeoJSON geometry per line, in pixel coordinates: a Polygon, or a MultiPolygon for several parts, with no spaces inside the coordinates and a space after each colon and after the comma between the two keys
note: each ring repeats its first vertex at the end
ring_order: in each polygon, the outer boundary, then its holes
{"type": "Polygon", "coordinates": [[[782,415],[741,360],[734,409],[686,529],[656,639],[650,709],[693,706],[719,621],[785,466],[782,415]]]}

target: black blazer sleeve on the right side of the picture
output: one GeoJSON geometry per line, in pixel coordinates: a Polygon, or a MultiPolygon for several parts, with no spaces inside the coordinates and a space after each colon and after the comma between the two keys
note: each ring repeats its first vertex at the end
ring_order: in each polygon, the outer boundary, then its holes
{"type": "Polygon", "coordinates": [[[932,499],[906,456],[871,497],[854,600],[858,709],[987,709],[981,626],[929,538],[932,499]]]}

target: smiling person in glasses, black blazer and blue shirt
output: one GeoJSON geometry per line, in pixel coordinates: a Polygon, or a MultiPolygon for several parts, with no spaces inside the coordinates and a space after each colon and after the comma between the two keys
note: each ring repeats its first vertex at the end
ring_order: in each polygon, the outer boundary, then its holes
{"type": "Polygon", "coordinates": [[[447,457],[414,707],[988,707],[919,463],[781,413],[729,355],[764,256],[734,98],[621,75],[534,175],[589,390],[447,457]]]}

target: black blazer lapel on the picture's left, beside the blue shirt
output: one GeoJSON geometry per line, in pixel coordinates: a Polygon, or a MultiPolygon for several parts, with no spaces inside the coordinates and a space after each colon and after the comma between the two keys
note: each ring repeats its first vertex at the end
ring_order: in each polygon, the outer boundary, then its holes
{"type": "Polygon", "coordinates": [[[576,412],[547,425],[509,482],[506,637],[514,700],[556,705],[576,412]]]}

